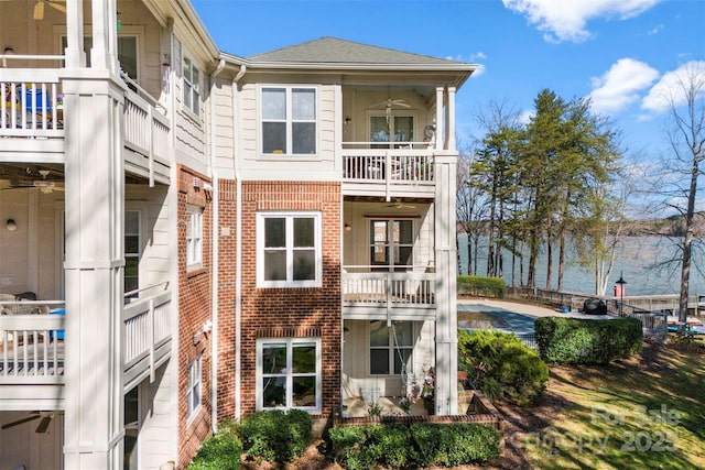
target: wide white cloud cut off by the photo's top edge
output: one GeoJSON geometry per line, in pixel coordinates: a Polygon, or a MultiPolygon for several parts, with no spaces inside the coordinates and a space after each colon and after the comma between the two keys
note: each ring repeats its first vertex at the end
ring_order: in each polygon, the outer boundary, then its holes
{"type": "Polygon", "coordinates": [[[633,18],[663,0],[502,0],[505,7],[525,15],[543,32],[546,42],[583,42],[595,18],[633,18]]]}

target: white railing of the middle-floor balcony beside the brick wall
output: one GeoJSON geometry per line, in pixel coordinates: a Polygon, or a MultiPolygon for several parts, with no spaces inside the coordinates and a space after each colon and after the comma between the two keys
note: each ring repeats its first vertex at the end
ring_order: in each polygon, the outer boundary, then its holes
{"type": "Polygon", "coordinates": [[[371,272],[371,269],[344,266],[344,319],[435,319],[436,274],[433,269],[414,267],[410,272],[371,272]]]}

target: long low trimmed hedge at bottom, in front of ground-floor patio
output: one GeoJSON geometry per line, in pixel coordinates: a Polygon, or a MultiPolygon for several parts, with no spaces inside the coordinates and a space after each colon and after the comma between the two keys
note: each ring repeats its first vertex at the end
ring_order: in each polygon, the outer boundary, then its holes
{"type": "Polygon", "coordinates": [[[499,431],[469,423],[334,427],[335,460],[348,470],[486,463],[500,456],[499,431]]]}

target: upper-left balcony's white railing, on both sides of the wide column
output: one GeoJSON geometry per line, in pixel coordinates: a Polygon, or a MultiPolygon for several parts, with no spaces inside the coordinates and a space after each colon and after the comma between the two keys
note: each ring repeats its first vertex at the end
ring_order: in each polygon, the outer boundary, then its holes
{"type": "MultiPolygon", "coordinates": [[[[0,161],[64,163],[66,128],[61,68],[7,68],[0,80],[0,161]]],[[[126,170],[169,183],[171,124],[166,110],[123,76],[126,170]]]]}

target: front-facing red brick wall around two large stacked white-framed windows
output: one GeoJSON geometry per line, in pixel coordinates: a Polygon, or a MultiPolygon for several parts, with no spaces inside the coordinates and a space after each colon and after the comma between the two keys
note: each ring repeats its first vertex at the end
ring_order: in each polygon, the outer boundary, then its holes
{"type": "MultiPolygon", "coordinates": [[[[319,336],[323,356],[322,418],[340,394],[340,223],[338,183],[245,182],[242,184],[241,412],[256,407],[256,341],[271,336],[319,336]],[[261,210],[317,210],[323,225],[323,286],[257,288],[256,215],[261,210]]],[[[235,266],[235,262],[231,263],[235,266]]],[[[232,267],[235,269],[235,267],[232,267]]],[[[221,387],[224,384],[220,385],[221,387]]]]}

